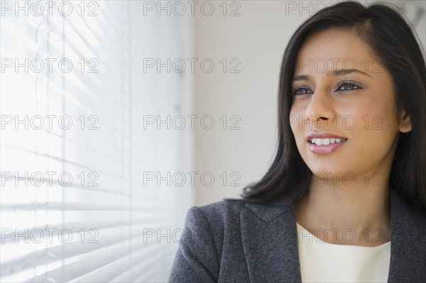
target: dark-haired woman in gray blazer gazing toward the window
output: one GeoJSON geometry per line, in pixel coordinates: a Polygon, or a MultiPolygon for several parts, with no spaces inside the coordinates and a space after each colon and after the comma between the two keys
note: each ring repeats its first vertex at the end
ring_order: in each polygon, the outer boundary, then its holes
{"type": "Polygon", "coordinates": [[[387,6],[295,31],[266,175],[188,211],[170,282],[425,282],[426,68],[387,6]]]}

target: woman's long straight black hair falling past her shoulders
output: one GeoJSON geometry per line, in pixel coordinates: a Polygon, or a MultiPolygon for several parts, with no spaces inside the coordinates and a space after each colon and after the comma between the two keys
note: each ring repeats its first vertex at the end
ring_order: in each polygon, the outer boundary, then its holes
{"type": "MultiPolygon", "coordinates": [[[[268,172],[244,187],[240,196],[253,204],[280,198],[298,201],[310,188],[312,172],[297,150],[290,128],[291,82],[297,52],[309,35],[327,28],[355,30],[391,74],[398,111],[410,116],[412,130],[400,133],[390,184],[403,199],[426,214],[426,67],[425,57],[410,21],[383,4],[364,7],[346,1],[318,11],[297,28],[285,49],[278,89],[278,148],[268,172]]],[[[420,41],[420,40],[419,40],[420,41]]]]}

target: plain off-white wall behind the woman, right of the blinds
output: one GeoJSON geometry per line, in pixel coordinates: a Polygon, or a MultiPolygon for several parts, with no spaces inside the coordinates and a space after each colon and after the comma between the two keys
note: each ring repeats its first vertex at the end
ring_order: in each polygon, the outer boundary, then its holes
{"type": "MultiPolygon", "coordinates": [[[[221,3],[214,1],[212,16],[196,14],[195,55],[200,60],[212,58],[218,69],[222,58],[238,58],[241,73],[195,73],[195,111],[214,116],[217,123],[212,130],[196,131],[197,171],[215,177],[211,187],[198,184],[198,206],[237,197],[246,184],[266,172],[277,138],[278,75],[285,47],[305,18],[337,1],[238,1],[241,6],[228,6],[227,16],[222,15],[221,3]],[[241,16],[228,16],[234,9],[241,16]],[[241,117],[241,129],[223,130],[219,121],[223,115],[241,117]],[[230,187],[229,182],[224,186],[219,174],[226,172],[229,181],[234,171],[241,174],[240,186],[230,187]]],[[[425,5],[425,1],[393,3],[404,3],[409,18],[425,5]]],[[[424,14],[417,28],[425,45],[424,14]]]]}

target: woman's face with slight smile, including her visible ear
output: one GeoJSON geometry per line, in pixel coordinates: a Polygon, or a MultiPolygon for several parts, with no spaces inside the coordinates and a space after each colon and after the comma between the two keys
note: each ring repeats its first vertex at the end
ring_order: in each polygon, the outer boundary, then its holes
{"type": "Polygon", "coordinates": [[[393,79],[368,44],[344,28],[311,35],[299,50],[292,89],[291,129],[317,177],[386,177],[398,132],[411,126],[405,111],[397,115],[393,79]]]}

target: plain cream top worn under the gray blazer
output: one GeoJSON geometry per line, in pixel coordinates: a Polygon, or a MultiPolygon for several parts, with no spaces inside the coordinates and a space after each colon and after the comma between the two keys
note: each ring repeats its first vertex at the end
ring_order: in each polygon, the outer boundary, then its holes
{"type": "MultiPolygon", "coordinates": [[[[391,241],[376,247],[331,244],[296,225],[302,282],[388,281],[391,241]]],[[[327,235],[332,237],[332,231],[327,235]]],[[[349,240],[353,236],[351,231],[345,235],[349,240]]]]}

